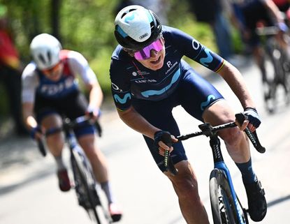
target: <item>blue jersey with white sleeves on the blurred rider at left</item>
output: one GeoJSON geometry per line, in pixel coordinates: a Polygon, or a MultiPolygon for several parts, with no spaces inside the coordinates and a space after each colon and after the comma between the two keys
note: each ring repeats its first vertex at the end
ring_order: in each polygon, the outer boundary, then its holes
{"type": "Polygon", "coordinates": [[[64,98],[78,91],[78,76],[85,84],[97,82],[94,71],[82,54],[71,50],[61,50],[60,57],[64,69],[57,81],[45,77],[33,61],[24,68],[22,73],[23,103],[34,103],[36,95],[48,99],[64,98]]]}

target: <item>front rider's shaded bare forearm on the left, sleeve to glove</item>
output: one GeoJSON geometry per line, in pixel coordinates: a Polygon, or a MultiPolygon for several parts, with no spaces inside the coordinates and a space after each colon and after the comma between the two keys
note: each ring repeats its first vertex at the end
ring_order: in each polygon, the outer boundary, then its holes
{"type": "Polygon", "coordinates": [[[136,112],[132,106],[127,110],[117,110],[117,112],[120,119],[122,119],[127,126],[147,137],[154,139],[154,133],[160,130],[159,128],[152,126],[152,124],[136,112]]]}

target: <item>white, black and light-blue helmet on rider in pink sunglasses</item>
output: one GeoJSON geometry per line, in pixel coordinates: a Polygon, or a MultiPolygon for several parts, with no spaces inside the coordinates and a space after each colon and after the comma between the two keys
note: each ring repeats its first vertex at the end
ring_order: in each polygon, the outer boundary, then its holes
{"type": "Polygon", "coordinates": [[[130,50],[150,45],[161,31],[157,15],[143,6],[127,6],[115,18],[115,37],[122,47],[130,50]]]}

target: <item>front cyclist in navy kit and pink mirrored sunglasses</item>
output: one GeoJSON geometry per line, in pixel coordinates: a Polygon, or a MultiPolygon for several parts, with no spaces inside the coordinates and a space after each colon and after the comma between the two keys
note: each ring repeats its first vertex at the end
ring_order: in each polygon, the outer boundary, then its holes
{"type": "MultiPolygon", "coordinates": [[[[115,18],[115,38],[119,45],[110,64],[112,94],[119,117],[143,134],[161,172],[171,180],[187,223],[209,223],[198,184],[173,118],[173,107],[181,105],[191,116],[213,126],[235,119],[222,94],[182,60],[187,56],[219,73],[238,97],[248,120],[240,127],[255,130],[261,123],[252,97],[240,72],[187,33],[161,26],[157,15],[142,6],[127,6],[115,18]],[[173,147],[162,138],[171,134],[173,147]],[[164,151],[178,170],[173,176],[164,167],[164,151]]],[[[219,133],[242,173],[254,221],[266,215],[266,199],[261,182],[252,169],[249,143],[239,128],[219,133]]]]}

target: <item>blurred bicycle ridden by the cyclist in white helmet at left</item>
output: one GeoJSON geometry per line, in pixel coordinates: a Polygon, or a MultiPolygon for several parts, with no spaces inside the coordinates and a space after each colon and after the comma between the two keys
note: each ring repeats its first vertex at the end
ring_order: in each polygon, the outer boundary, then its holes
{"type": "MultiPolygon", "coordinates": [[[[113,223],[108,209],[104,206],[105,198],[101,197],[99,184],[96,182],[89,160],[78,144],[73,128],[85,126],[92,121],[87,116],[78,117],[74,121],[65,118],[61,128],[51,128],[46,131],[45,136],[64,131],[66,142],[70,151],[71,170],[73,172],[73,187],[78,198],[78,204],[87,211],[89,218],[98,224],[113,223]]],[[[101,136],[101,126],[95,123],[97,132],[101,136]]],[[[46,155],[45,145],[38,140],[38,149],[43,156],[46,155]]]]}

